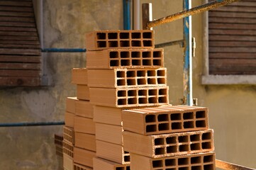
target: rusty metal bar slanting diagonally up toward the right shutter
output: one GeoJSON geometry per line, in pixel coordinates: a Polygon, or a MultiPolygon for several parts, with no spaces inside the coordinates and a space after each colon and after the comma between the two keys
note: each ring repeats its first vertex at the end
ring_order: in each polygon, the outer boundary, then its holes
{"type": "Polygon", "coordinates": [[[155,21],[148,22],[147,28],[149,29],[149,28],[152,28],[154,26],[160,26],[163,23],[169,23],[169,22],[181,19],[181,18],[185,18],[187,16],[194,15],[196,13],[201,13],[201,12],[204,12],[204,11],[208,11],[208,10],[211,10],[213,8],[218,8],[220,6],[225,6],[225,5],[231,4],[235,1],[240,1],[240,0],[216,0],[216,1],[212,1],[212,2],[209,2],[208,4],[204,4],[204,5],[201,5],[201,6],[196,6],[194,8],[190,8],[190,9],[187,9],[185,11],[180,11],[180,12],[174,13],[170,16],[166,16],[166,17],[157,19],[155,21]]]}

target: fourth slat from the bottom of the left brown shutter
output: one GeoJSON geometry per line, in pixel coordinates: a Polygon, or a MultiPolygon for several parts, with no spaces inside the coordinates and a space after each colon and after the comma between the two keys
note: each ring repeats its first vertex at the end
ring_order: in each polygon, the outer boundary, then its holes
{"type": "Polygon", "coordinates": [[[0,55],[0,62],[26,62],[26,63],[40,63],[40,56],[24,56],[24,55],[0,55]]]}

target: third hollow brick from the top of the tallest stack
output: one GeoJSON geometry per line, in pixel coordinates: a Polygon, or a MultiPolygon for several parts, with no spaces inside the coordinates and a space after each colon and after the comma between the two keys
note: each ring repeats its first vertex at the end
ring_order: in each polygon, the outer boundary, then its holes
{"type": "Polygon", "coordinates": [[[166,68],[160,69],[88,69],[88,86],[128,88],[166,86],[166,68]]]}

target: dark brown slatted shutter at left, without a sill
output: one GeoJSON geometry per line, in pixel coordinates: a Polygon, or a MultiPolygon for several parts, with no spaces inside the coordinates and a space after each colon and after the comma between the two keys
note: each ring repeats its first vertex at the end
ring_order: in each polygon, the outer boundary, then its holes
{"type": "Polygon", "coordinates": [[[0,86],[39,86],[40,51],[32,0],[0,0],[0,86]]]}

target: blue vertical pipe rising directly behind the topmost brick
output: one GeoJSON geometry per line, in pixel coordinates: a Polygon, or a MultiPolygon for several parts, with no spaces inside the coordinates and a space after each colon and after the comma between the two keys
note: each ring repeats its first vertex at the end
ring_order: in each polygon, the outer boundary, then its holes
{"type": "Polygon", "coordinates": [[[123,29],[130,30],[130,0],[123,0],[123,29]]]}

